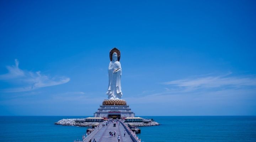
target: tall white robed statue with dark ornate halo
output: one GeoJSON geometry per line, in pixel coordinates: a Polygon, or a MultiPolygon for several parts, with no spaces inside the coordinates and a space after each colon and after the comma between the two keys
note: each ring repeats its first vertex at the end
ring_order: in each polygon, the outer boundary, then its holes
{"type": "MultiPolygon", "coordinates": [[[[116,49],[116,48],[114,48],[116,49]]],[[[122,98],[121,90],[121,75],[122,68],[119,62],[120,60],[120,51],[118,49],[112,49],[110,52],[110,64],[108,66],[108,99],[109,100],[120,100],[122,98]],[[119,55],[117,55],[117,51],[119,55]],[[112,58],[111,58],[112,55],[112,58]]]]}

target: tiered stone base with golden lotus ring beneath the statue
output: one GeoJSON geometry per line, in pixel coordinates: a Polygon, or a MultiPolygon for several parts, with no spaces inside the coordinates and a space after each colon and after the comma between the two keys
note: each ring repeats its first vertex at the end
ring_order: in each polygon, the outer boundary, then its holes
{"type": "Polygon", "coordinates": [[[134,116],[135,114],[125,100],[104,100],[100,108],[94,113],[94,117],[104,119],[124,119],[134,116]]]}

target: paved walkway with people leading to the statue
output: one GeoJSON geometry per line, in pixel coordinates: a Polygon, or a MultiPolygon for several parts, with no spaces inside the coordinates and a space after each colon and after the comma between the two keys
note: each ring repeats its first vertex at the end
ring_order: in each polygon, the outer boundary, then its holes
{"type": "Polygon", "coordinates": [[[108,124],[108,126],[102,127],[100,129],[100,131],[98,131],[93,137],[92,137],[92,141],[95,138],[95,140],[97,142],[118,142],[117,137],[118,135],[120,135],[120,142],[132,142],[132,139],[130,138],[129,135],[127,135],[126,132],[126,136],[124,137],[124,132],[125,128],[123,127],[122,124],[120,124],[120,126],[117,124],[116,127],[113,127],[113,123],[111,122],[110,124],[108,124]],[[116,131],[116,137],[110,137],[109,132],[112,131],[116,131]]]}

